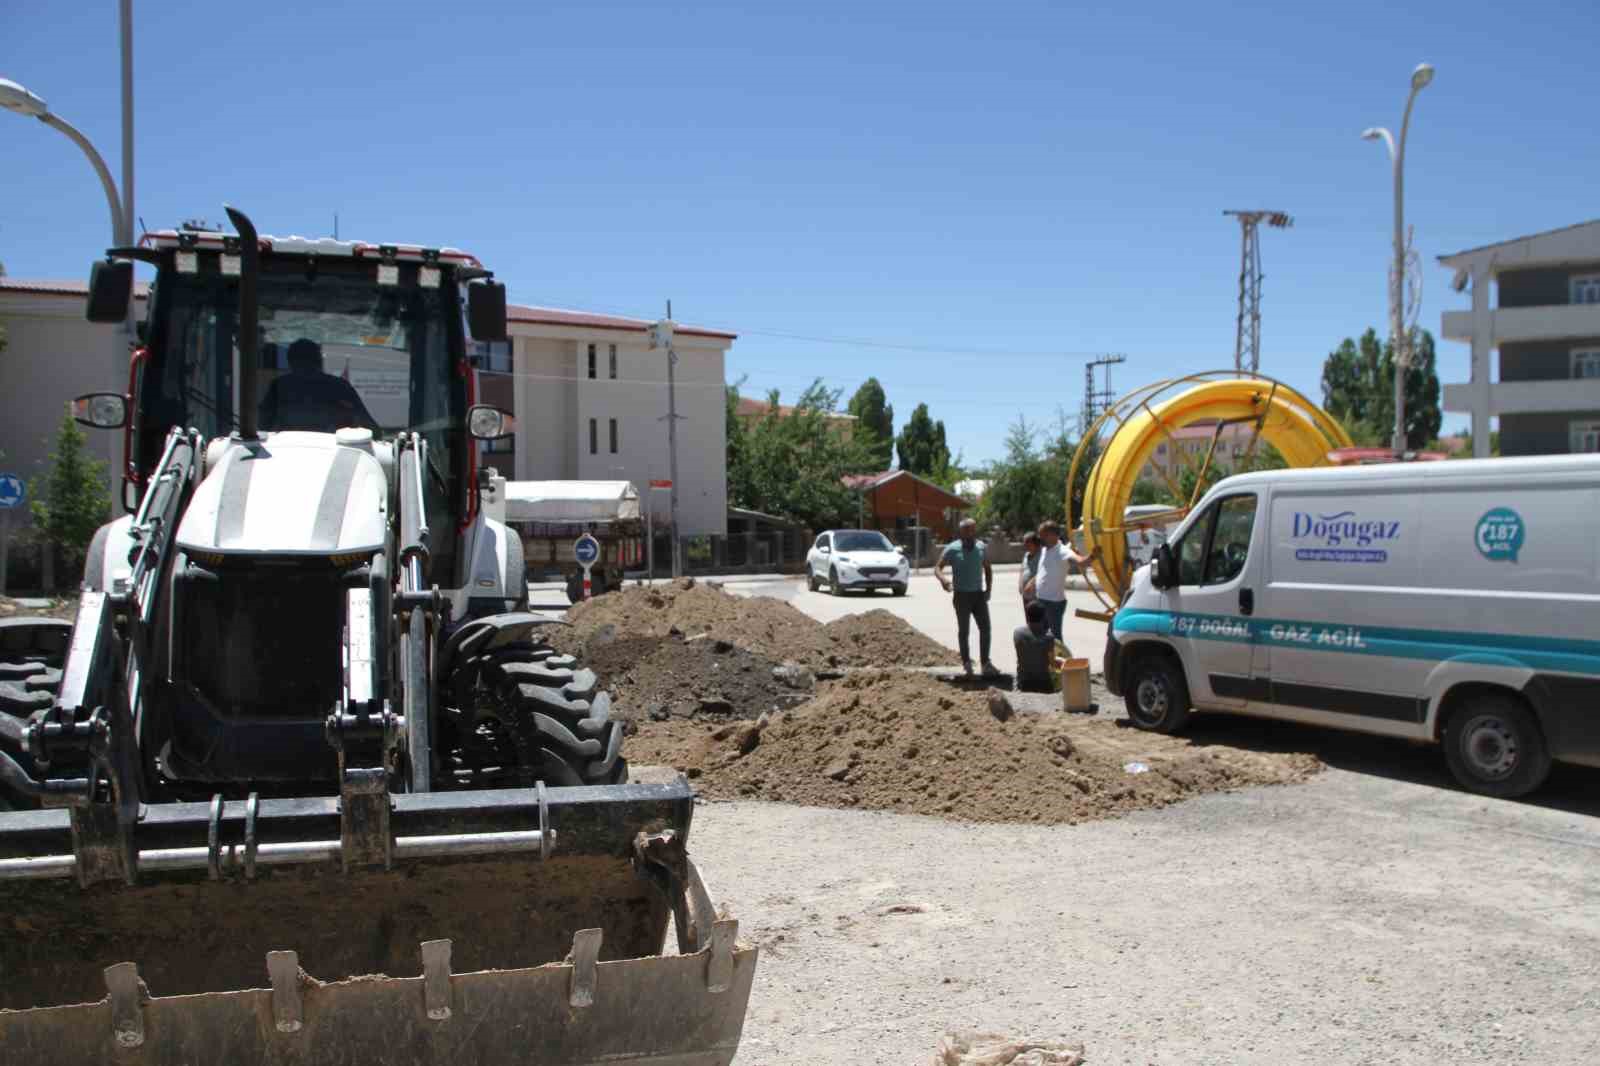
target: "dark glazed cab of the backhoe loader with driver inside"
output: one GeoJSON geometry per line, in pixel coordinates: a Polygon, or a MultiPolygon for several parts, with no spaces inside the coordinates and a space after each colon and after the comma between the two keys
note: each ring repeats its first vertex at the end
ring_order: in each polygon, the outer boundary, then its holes
{"type": "Polygon", "coordinates": [[[416,432],[427,443],[432,573],[440,584],[462,584],[461,535],[477,511],[466,347],[469,335],[504,339],[504,287],[453,248],[302,237],[258,243],[253,344],[240,344],[238,237],[158,230],[98,264],[90,301],[98,320],[122,317],[117,290],[131,282],[131,264],[118,259],[157,271],[130,373],[128,509],[174,427],[206,440],[242,429],[269,437],[365,429],[381,443],[416,432]],[[254,373],[242,352],[253,352],[254,373]]]}

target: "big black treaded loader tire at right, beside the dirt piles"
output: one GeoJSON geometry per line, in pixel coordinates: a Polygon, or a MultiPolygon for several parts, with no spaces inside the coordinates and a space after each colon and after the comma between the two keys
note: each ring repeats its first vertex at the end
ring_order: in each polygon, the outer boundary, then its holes
{"type": "Polygon", "coordinates": [[[474,739],[451,759],[458,776],[482,770],[466,763],[499,762],[506,779],[488,783],[499,787],[627,781],[622,723],[611,720],[611,696],[574,656],[538,643],[498,648],[459,663],[450,693],[474,739]],[[485,744],[493,754],[485,754],[485,744]]]}

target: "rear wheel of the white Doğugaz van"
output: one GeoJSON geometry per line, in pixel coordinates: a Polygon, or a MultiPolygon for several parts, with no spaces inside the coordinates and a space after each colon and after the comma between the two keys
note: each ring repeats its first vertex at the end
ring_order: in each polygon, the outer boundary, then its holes
{"type": "Polygon", "coordinates": [[[1526,795],[1550,773],[1550,749],[1533,712],[1509,693],[1469,696],[1445,723],[1445,762],[1483,795],[1526,795]]]}

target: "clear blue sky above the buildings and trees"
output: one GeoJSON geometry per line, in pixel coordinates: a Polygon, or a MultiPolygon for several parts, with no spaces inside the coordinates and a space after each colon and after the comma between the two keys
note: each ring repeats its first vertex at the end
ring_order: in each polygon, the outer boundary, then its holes
{"type": "MultiPolygon", "coordinates": [[[[520,303],[736,330],[730,381],[875,375],[971,461],[1018,415],[1232,365],[1238,227],[1266,230],[1262,370],[1320,395],[1386,315],[1390,182],[1368,125],[1418,101],[1434,256],[1600,214],[1589,5],[136,3],[138,214],[453,243],[520,303]],[[827,338],[827,341],[819,339],[827,338]],[[832,343],[840,339],[859,344],[832,343]]],[[[0,6],[0,77],[117,170],[117,3],[0,6]]],[[[104,200],[0,114],[0,261],[82,277],[104,200]]],[[[1440,344],[1462,381],[1466,347],[1440,344]]],[[[1446,426],[1461,419],[1446,418],[1446,426]]]]}

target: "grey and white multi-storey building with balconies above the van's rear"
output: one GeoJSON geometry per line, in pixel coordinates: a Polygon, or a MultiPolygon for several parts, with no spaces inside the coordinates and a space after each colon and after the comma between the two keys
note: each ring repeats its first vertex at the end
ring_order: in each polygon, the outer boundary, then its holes
{"type": "Polygon", "coordinates": [[[1470,287],[1472,311],[1446,311],[1440,333],[1472,346],[1470,379],[1445,386],[1445,410],[1472,415],[1472,455],[1490,453],[1490,418],[1501,455],[1600,451],[1600,221],[1438,261],[1470,287]]]}

